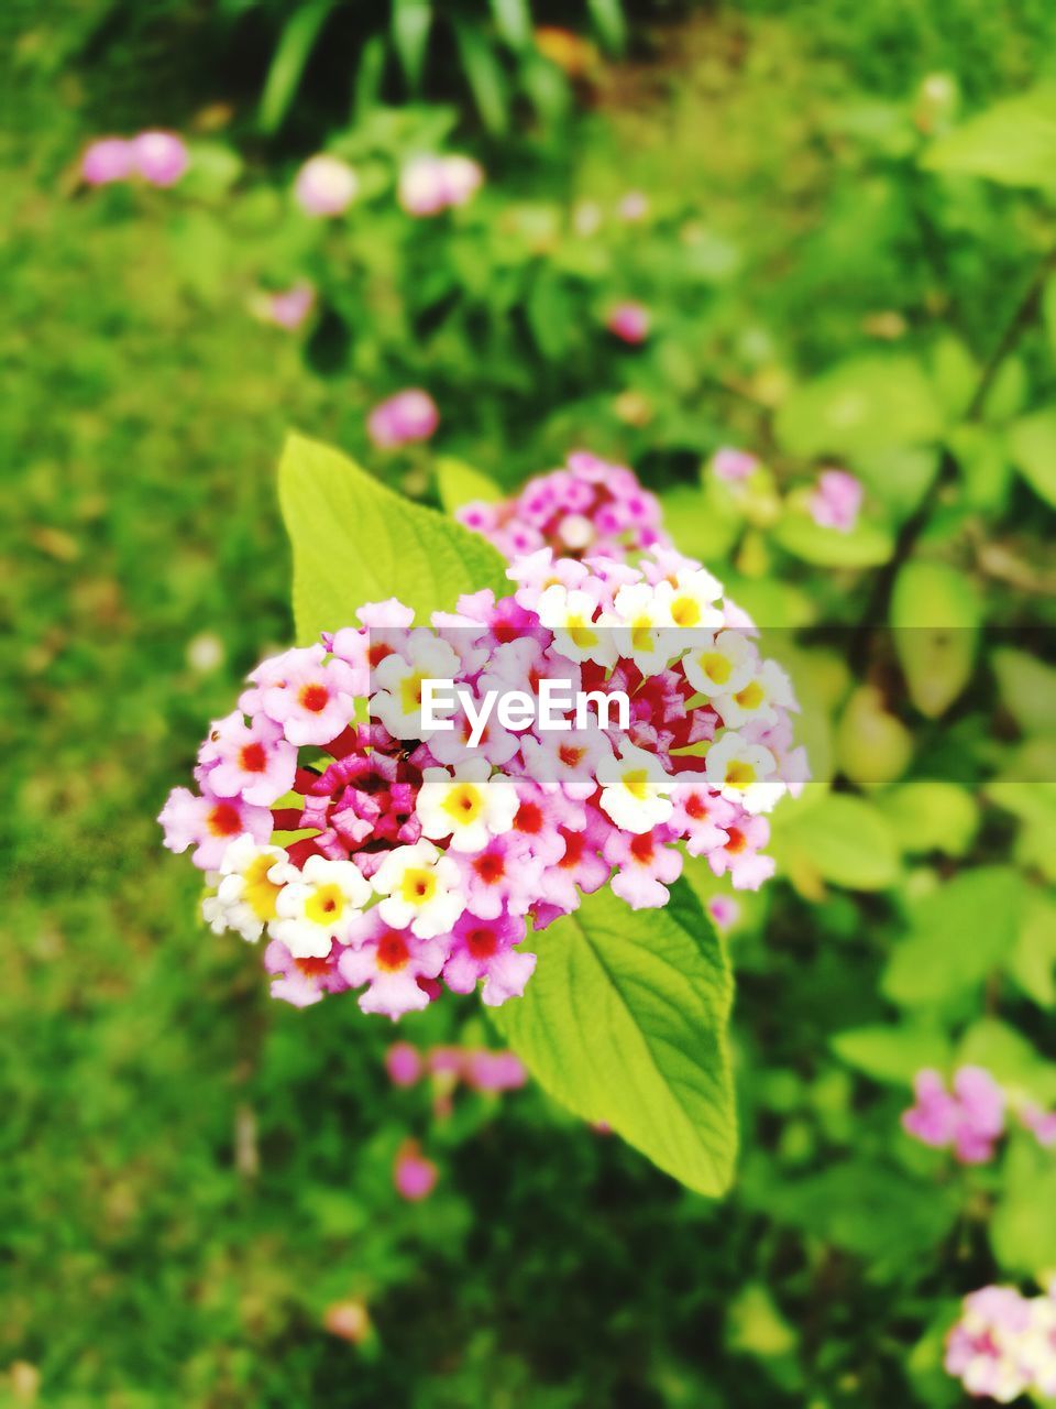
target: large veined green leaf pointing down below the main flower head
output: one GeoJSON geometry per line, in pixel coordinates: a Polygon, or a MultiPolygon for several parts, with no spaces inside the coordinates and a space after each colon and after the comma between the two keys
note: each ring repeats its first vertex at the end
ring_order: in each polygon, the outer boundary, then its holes
{"type": "Polygon", "coordinates": [[[736,1130],[727,1053],[732,985],[684,881],[663,910],[608,889],[534,936],[538,968],[496,1024],[542,1086],[604,1120],[698,1193],[719,1195],[736,1130]]]}

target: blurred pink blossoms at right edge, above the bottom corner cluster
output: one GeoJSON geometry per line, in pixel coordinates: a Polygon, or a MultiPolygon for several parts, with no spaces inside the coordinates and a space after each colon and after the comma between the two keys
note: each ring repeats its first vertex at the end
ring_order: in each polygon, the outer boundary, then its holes
{"type": "Polygon", "coordinates": [[[935,1150],[952,1150],[960,1164],[987,1164],[1015,1115],[1043,1148],[1056,1146],[1056,1112],[1010,1098],[983,1067],[960,1067],[950,1088],[938,1071],[914,1078],[915,1103],[903,1115],[904,1129],[935,1150]]]}

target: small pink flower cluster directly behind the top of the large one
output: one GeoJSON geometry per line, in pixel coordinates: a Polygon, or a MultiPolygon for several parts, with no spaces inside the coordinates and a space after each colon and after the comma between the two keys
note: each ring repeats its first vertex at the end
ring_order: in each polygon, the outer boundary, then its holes
{"type": "Polygon", "coordinates": [[[552,548],[562,558],[615,558],[667,547],[659,499],[627,465],[610,465],[587,451],[562,469],[535,475],[503,503],[474,502],[455,511],[505,558],[552,548]]]}

